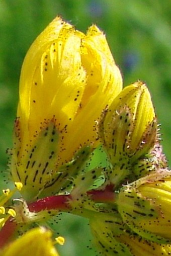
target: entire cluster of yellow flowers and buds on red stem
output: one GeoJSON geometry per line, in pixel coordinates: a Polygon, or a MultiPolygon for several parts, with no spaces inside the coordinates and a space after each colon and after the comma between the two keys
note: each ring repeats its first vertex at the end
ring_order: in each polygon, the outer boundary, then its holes
{"type": "Polygon", "coordinates": [[[0,197],[2,255],[25,255],[27,246],[58,255],[44,228],[4,245],[59,211],[88,218],[104,256],[171,254],[171,173],[151,96],[139,80],[122,90],[95,25],[83,34],[57,17],[29,49],[10,170],[16,189],[0,197]],[[93,166],[97,152],[105,161],[93,166]]]}

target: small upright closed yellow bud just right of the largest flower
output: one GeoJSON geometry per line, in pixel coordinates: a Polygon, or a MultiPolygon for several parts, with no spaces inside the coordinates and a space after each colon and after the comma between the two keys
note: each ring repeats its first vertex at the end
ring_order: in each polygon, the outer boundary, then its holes
{"type": "Polygon", "coordinates": [[[101,140],[112,163],[112,170],[108,172],[112,184],[117,186],[125,177],[132,178],[133,173],[141,176],[143,168],[143,174],[149,170],[145,155],[157,140],[156,130],[155,113],[146,85],[137,81],[124,88],[104,112],[100,124],[101,140]],[[141,158],[140,168],[136,164],[141,158]]]}

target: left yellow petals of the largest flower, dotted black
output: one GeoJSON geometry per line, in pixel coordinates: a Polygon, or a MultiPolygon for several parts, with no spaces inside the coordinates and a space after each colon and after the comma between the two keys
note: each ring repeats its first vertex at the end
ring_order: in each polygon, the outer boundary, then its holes
{"type": "Polygon", "coordinates": [[[56,116],[64,127],[74,117],[86,75],[80,58],[82,37],[57,17],[32,44],[20,77],[21,136],[32,139],[44,119],[56,116]]]}

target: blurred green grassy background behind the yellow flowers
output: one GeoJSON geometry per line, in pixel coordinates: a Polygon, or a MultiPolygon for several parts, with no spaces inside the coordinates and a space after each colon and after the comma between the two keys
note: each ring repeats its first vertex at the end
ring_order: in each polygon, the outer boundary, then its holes
{"type": "MultiPolygon", "coordinates": [[[[36,36],[58,14],[85,32],[92,23],[105,31],[124,86],[146,81],[161,123],[164,152],[171,161],[170,0],[0,0],[0,167],[6,169],[24,56],[36,36]]],[[[171,163],[171,162],[170,162],[171,163]]],[[[87,249],[86,220],[66,215],[57,225],[66,244],[61,255],[95,255],[87,249]]]]}

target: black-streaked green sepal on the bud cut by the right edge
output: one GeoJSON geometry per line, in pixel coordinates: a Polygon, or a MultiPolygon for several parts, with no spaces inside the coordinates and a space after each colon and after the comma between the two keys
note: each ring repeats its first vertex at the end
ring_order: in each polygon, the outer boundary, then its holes
{"type": "Polygon", "coordinates": [[[118,211],[129,228],[144,239],[157,243],[170,243],[171,241],[148,230],[148,225],[160,217],[155,204],[145,199],[136,191],[135,184],[125,186],[118,194],[116,200],[118,211]]]}

